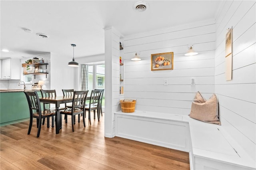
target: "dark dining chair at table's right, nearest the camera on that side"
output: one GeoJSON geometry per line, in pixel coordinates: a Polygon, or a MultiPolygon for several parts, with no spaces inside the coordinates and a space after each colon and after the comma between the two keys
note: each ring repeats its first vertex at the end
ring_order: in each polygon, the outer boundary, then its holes
{"type": "Polygon", "coordinates": [[[72,107],[66,108],[65,110],[60,111],[62,115],[70,115],[72,123],[72,131],[74,132],[74,116],[82,114],[84,127],[85,127],[85,102],[88,94],[87,91],[74,91],[72,107]]]}

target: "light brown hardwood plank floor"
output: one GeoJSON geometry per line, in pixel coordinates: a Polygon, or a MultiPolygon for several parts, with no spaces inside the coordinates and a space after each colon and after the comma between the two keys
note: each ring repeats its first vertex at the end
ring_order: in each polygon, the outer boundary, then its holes
{"type": "MultiPolygon", "coordinates": [[[[60,134],[42,125],[36,138],[36,121],[30,135],[29,121],[0,127],[1,170],[189,170],[187,152],[120,137],[104,137],[104,115],[84,128],[82,119],[72,132],[71,118],[62,121],[60,134]]],[[[51,125],[51,124],[50,124],[51,125]]]]}

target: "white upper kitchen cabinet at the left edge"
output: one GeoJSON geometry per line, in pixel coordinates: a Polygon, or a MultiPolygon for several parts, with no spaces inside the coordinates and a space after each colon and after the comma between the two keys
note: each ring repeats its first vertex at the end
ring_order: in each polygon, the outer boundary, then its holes
{"type": "Polygon", "coordinates": [[[2,60],[1,79],[20,79],[20,59],[8,58],[2,60]]]}

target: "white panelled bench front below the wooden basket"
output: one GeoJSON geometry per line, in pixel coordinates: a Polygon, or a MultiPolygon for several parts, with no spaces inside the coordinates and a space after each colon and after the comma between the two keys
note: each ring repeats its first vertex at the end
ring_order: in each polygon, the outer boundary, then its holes
{"type": "Polygon", "coordinates": [[[189,152],[187,123],[128,114],[115,114],[115,122],[118,137],[189,152]]]}

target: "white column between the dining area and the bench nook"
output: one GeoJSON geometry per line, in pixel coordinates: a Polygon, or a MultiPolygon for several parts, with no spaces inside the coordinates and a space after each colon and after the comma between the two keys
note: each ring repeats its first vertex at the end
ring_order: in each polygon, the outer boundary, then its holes
{"type": "Polygon", "coordinates": [[[120,33],[113,27],[105,30],[105,114],[104,136],[112,138],[114,134],[114,112],[119,106],[119,40],[120,33]]]}

